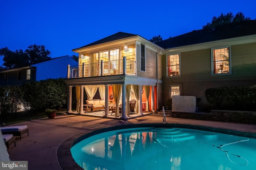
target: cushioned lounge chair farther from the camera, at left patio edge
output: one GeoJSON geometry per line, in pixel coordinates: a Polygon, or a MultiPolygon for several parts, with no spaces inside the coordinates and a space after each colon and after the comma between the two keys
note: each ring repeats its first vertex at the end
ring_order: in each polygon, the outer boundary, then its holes
{"type": "MultiPolygon", "coordinates": [[[[13,136],[19,136],[21,140],[21,135],[24,133],[28,133],[28,126],[27,125],[21,125],[21,126],[5,126],[0,127],[2,134],[12,134],[13,136]]],[[[28,134],[29,135],[29,134],[28,134]]]]}

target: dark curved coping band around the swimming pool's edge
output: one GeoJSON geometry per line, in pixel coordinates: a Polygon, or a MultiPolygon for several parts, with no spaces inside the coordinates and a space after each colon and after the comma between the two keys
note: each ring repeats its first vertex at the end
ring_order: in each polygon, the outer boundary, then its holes
{"type": "Polygon", "coordinates": [[[118,129],[129,129],[129,128],[136,128],[136,127],[176,127],[176,128],[184,128],[184,129],[196,129],[196,130],[203,130],[203,131],[211,131],[216,133],[224,133],[228,135],[236,135],[241,137],[248,137],[256,139],[255,133],[249,133],[249,132],[243,132],[243,131],[235,131],[230,129],[222,129],[222,128],[216,128],[216,127],[208,127],[208,126],[202,126],[202,125],[189,125],[189,124],[182,124],[182,123],[139,123],[139,124],[126,124],[126,125],[118,125],[118,126],[110,126],[106,128],[99,128],[94,131],[90,131],[88,133],[78,133],[68,139],[66,139],[64,142],[62,142],[58,149],[57,149],[57,158],[59,161],[60,166],[64,170],[83,170],[73,159],[70,149],[79,143],[80,141],[91,137],[93,135],[97,135],[99,133],[104,133],[107,131],[113,131],[118,129]]]}

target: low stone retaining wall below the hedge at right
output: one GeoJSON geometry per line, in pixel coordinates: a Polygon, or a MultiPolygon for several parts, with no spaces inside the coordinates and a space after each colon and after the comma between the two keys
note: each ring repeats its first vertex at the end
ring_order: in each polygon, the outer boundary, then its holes
{"type": "Polygon", "coordinates": [[[165,111],[167,117],[196,119],[207,121],[224,121],[233,123],[247,123],[256,125],[256,112],[211,110],[211,113],[190,113],[165,111]]]}

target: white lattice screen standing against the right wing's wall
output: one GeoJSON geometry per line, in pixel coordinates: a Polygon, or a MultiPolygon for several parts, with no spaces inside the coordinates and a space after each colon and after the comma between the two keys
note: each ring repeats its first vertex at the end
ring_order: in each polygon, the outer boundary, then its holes
{"type": "Polygon", "coordinates": [[[196,112],[196,96],[172,96],[172,111],[196,112]]]}

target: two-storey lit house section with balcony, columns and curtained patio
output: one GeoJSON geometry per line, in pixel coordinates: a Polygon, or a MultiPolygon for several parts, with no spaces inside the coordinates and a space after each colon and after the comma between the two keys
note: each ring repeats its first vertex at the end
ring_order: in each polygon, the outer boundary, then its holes
{"type": "MultiPolygon", "coordinates": [[[[133,96],[138,101],[136,104],[138,114],[143,114],[142,110],[154,111],[158,107],[157,103],[162,102],[160,96],[157,96],[161,94],[161,89],[158,87],[162,83],[162,50],[163,48],[140,35],[123,32],[73,49],[74,52],[79,53],[79,61],[78,66],[68,66],[68,79],[65,80],[69,86],[68,112],[72,112],[72,86],[80,88],[79,113],[83,113],[84,89],[88,100],[94,97],[95,93],[92,96],[89,94],[92,89],[94,91],[98,89],[100,94],[103,93],[100,99],[105,101],[105,116],[109,113],[108,106],[113,96],[116,107],[118,103],[122,105],[123,119],[127,118],[126,113],[130,113],[127,111],[130,108],[126,104],[131,98],[129,96],[133,96]],[[119,94],[117,97],[121,89],[121,96],[119,94]],[[126,91],[129,94],[126,94],[126,91]]],[[[115,114],[119,117],[117,109],[115,114]]]]}

